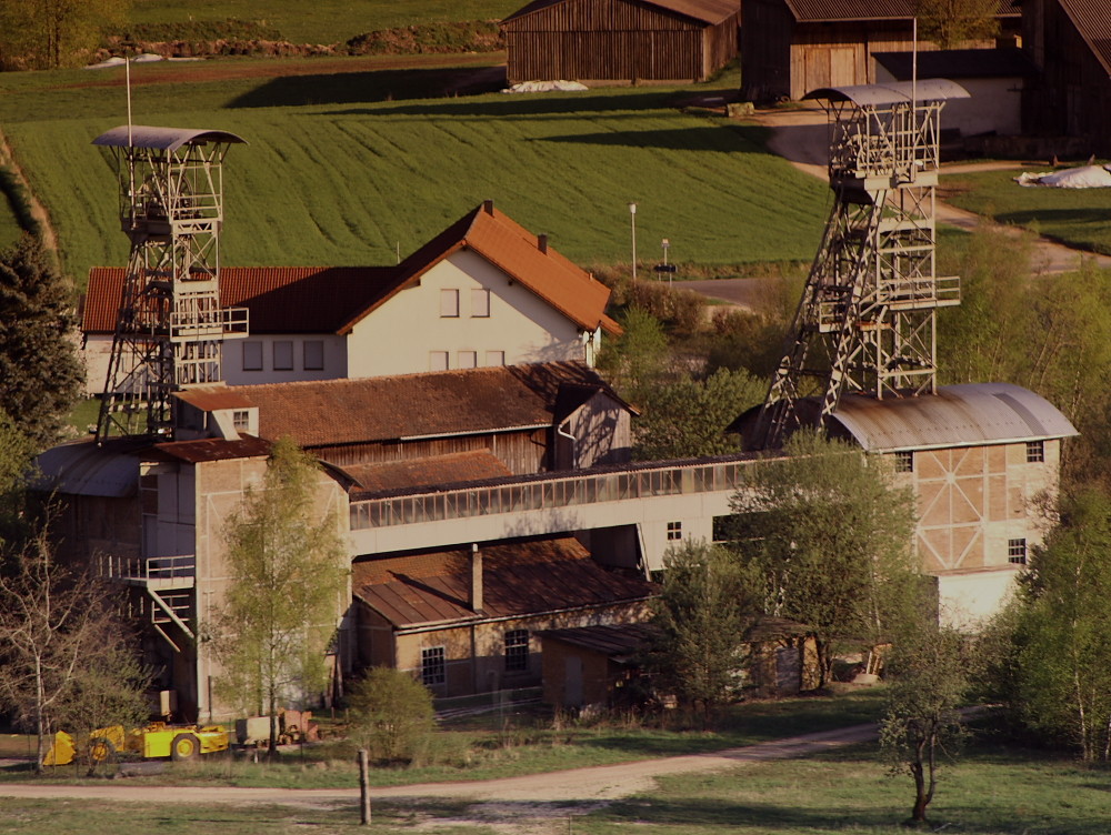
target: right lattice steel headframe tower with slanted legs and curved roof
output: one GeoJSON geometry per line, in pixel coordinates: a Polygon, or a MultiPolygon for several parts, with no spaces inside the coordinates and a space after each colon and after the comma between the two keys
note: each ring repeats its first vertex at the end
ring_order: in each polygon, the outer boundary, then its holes
{"type": "Polygon", "coordinates": [[[960,280],[935,273],[934,187],[941,109],[968,92],[932,79],[807,98],[829,117],[833,207],[750,449],[824,429],[844,393],[933,393],[937,310],[960,303],[960,280]]]}

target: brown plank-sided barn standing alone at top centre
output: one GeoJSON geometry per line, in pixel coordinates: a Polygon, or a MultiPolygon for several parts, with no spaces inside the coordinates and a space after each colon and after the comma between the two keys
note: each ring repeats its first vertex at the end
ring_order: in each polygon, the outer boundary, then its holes
{"type": "Polygon", "coordinates": [[[534,0],[502,21],[507,77],[705,81],[737,56],[739,0],[534,0]]]}

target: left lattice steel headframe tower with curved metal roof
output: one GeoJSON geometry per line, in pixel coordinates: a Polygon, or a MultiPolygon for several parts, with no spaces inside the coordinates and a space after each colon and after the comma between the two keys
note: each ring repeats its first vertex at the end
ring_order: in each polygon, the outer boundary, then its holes
{"type": "Polygon", "coordinates": [[[97,442],[161,435],[173,391],[222,380],[226,339],[247,310],[220,308],[223,131],[124,125],[93,144],[116,155],[120,223],[131,241],[97,442]]]}

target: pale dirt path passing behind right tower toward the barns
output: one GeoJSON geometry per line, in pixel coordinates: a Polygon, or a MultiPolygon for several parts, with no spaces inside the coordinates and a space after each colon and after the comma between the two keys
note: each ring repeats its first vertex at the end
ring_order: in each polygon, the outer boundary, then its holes
{"type": "MultiPolygon", "coordinates": [[[[757,114],[755,121],[772,129],[772,135],[768,142],[768,148],[771,151],[788,160],[800,171],[817,177],[823,182],[828,180],[825,165],[829,159],[829,129],[825,111],[817,103],[795,110],[761,111],[757,114]]],[[[1022,163],[1019,162],[975,162],[945,165],[942,168],[942,173],[1019,170],[1020,168],[1022,168],[1022,163]]],[[[937,202],[935,214],[942,223],[965,231],[971,231],[983,223],[990,223],[973,212],[958,209],[940,200],[937,202]]],[[[1015,238],[1024,234],[1023,230],[1014,227],[995,225],[995,228],[1015,238]]],[[[1081,252],[1047,238],[1038,238],[1033,243],[1031,265],[1035,273],[1068,272],[1075,270],[1082,260],[1094,260],[1099,266],[1111,268],[1111,258],[1107,255],[1081,252]]],[[[695,288],[691,285],[691,289],[695,288]]],[[[712,295],[728,300],[728,296],[719,295],[719,293],[712,293],[712,295]]]]}

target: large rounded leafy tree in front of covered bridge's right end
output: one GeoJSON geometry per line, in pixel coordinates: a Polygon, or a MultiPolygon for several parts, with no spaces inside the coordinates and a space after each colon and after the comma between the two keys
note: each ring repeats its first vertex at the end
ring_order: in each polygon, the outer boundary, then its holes
{"type": "Polygon", "coordinates": [[[764,613],[814,631],[822,687],[838,642],[883,643],[917,606],[914,500],[848,443],[798,432],[784,453],[733,496],[734,547],[761,577],[764,613]]]}

